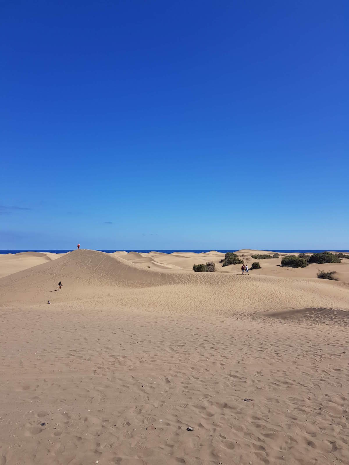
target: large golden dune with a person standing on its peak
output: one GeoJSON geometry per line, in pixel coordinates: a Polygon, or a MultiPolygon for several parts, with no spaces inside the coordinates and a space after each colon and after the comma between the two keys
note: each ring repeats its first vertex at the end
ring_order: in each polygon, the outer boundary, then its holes
{"type": "MultiPolygon", "coordinates": [[[[177,253],[149,258],[147,254],[130,252],[127,260],[105,252],[75,250],[55,260],[40,257],[44,263],[0,279],[0,304],[45,304],[50,298],[54,301],[59,299],[59,302],[86,298],[108,298],[118,302],[126,299],[128,302],[133,295],[134,299],[136,296],[139,299],[137,305],[143,306],[148,305],[154,288],[162,286],[166,290],[155,292],[158,299],[162,302],[175,299],[178,306],[188,312],[195,311],[202,302],[205,307],[212,306],[215,312],[224,314],[246,306],[272,310],[347,305],[349,287],[309,275],[305,278],[302,277],[304,272],[284,270],[269,264],[278,259],[261,260],[262,270],[252,270],[249,276],[241,275],[239,265],[221,267],[218,262],[222,254],[209,255],[217,263],[219,272],[195,273],[190,270],[193,263],[205,263],[208,255],[197,254],[193,258],[192,255],[183,257],[177,253]],[[174,268],[157,268],[160,266],[174,268]],[[263,271],[266,275],[262,274],[263,271]],[[292,277],[284,276],[288,273],[292,277]],[[59,281],[63,283],[64,292],[54,292],[59,281]],[[183,286],[188,290],[184,294],[179,291],[183,286]],[[129,294],[127,289],[134,291],[129,294]],[[142,292],[137,289],[142,289],[142,292]]],[[[245,261],[251,263],[252,259],[245,255],[245,261]]],[[[344,264],[343,268],[346,267],[344,264]]]]}

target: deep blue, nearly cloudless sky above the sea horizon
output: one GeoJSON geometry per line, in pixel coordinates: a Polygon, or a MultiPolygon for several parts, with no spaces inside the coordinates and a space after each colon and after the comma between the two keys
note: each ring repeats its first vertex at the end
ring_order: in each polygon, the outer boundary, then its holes
{"type": "Polygon", "coordinates": [[[0,6],[0,249],[349,249],[343,1],[0,6]]]}

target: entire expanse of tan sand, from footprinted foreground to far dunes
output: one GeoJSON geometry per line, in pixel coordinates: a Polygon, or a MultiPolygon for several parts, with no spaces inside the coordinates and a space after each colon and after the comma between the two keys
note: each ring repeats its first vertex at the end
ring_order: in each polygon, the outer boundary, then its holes
{"type": "Polygon", "coordinates": [[[348,465],[349,259],[223,256],[0,255],[0,465],[348,465]]]}

